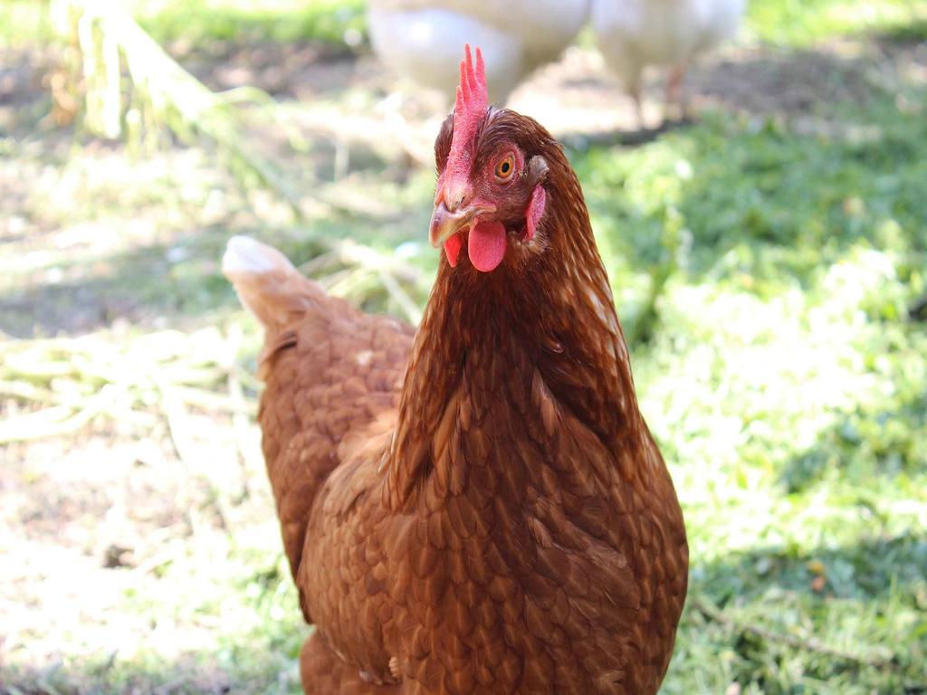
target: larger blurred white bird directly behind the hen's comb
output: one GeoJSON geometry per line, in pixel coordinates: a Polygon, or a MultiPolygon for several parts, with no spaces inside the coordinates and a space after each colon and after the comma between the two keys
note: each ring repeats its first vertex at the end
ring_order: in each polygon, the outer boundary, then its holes
{"type": "Polygon", "coordinates": [[[368,26],[383,62],[451,99],[461,46],[479,46],[489,97],[502,106],[528,73],[572,43],[589,8],[590,0],[370,0],[368,26]]]}

